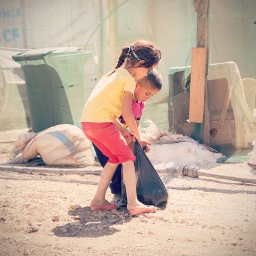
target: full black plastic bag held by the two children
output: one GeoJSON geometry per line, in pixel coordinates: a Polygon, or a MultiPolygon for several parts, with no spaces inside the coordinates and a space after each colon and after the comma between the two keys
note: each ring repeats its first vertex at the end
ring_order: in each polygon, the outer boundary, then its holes
{"type": "MultiPolygon", "coordinates": [[[[135,141],[133,152],[137,158],[134,165],[137,177],[138,200],[143,204],[154,206],[165,203],[168,199],[167,188],[137,140],[135,141]]],[[[127,198],[123,178],[121,196],[122,198],[118,203],[124,206],[127,204],[127,198]]]]}

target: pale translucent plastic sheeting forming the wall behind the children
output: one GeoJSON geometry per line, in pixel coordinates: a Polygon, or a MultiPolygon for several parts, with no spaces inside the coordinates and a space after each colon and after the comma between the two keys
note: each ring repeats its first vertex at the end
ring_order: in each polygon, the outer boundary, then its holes
{"type": "MultiPolygon", "coordinates": [[[[256,79],[256,2],[248,0],[244,5],[240,0],[215,0],[209,3],[209,63],[232,61],[242,80],[256,79]]],[[[197,33],[194,4],[193,0],[3,0],[0,2],[1,71],[3,67],[13,71],[13,52],[81,47],[94,56],[83,68],[86,101],[101,75],[115,67],[122,46],[141,38],[151,40],[162,51],[157,68],[164,86],[147,102],[142,121],[152,119],[161,129],[170,131],[168,70],[190,65],[190,50],[196,46],[197,33]]],[[[185,71],[188,76],[189,70],[185,71]]],[[[0,106],[1,109],[7,106],[8,116],[3,113],[0,116],[0,129],[26,127],[26,99],[21,100],[15,82],[5,81],[2,72],[0,106]]],[[[253,89],[248,94],[252,92],[253,89]]],[[[234,108],[244,106],[239,102],[240,97],[231,99],[234,108]]],[[[251,117],[247,115],[244,129],[250,129],[247,120],[251,117]]],[[[236,118],[236,125],[240,120],[236,118]]]]}

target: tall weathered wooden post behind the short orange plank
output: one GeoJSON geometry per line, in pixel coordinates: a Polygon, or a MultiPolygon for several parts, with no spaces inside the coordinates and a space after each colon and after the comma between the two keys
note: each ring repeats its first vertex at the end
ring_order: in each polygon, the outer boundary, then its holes
{"type": "Polygon", "coordinates": [[[204,143],[209,145],[210,114],[207,95],[209,0],[197,0],[197,2],[199,2],[197,11],[197,47],[206,48],[203,139],[204,143]]]}

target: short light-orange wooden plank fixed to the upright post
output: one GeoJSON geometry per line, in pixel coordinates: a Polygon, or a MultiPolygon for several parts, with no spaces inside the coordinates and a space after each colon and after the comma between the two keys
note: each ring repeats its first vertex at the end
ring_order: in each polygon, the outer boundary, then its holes
{"type": "Polygon", "coordinates": [[[189,122],[202,123],[204,117],[206,48],[192,48],[189,122]]]}

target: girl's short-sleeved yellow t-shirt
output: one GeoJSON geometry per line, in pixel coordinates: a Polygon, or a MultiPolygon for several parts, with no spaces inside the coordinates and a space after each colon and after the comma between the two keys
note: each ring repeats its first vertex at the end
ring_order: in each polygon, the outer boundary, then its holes
{"type": "Polygon", "coordinates": [[[113,122],[122,114],[124,92],[134,94],[134,77],[123,68],[103,76],[84,105],[81,122],[113,122]]]}

